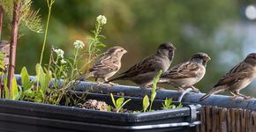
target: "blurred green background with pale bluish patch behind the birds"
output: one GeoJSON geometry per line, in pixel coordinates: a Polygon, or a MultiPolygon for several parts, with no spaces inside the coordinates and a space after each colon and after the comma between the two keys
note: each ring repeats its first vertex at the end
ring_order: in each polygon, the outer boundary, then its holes
{"type": "MultiPolygon", "coordinates": [[[[43,62],[49,61],[51,46],[63,48],[65,55],[71,55],[74,40],[83,40],[87,44],[86,36],[94,28],[95,18],[102,14],[108,19],[102,30],[107,39],[102,41],[108,48],[119,45],[128,50],[120,72],[153,54],[160,43],[170,41],[177,48],[172,66],[188,60],[196,52],[206,52],[212,58],[207,64],[206,76],[196,84],[202,92],[207,92],[230,68],[247,54],[255,52],[253,12],[256,14],[256,10],[253,4],[252,1],[238,0],[56,0],[43,62]],[[248,7],[251,7],[249,12],[248,7]]],[[[33,7],[40,9],[45,25],[46,1],[34,0],[33,7]]],[[[4,20],[5,40],[10,39],[9,22],[4,20]]],[[[26,66],[34,74],[34,66],[40,59],[43,33],[33,33],[26,28],[22,31],[16,73],[26,66]]],[[[131,83],[124,81],[120,84],[131,83]]],[[[169,85],[163,87],[171,88],[169,85]]],[[[248,87],[243,92],[253,95],[256,91],[253,84],[248,87]]]]}

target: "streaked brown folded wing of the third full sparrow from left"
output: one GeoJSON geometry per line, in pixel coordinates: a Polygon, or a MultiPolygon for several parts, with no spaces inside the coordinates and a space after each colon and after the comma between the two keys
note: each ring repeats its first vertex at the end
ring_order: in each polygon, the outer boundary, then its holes
{"type": "Polygon", "coordinates": [[[183,62],[171,68],[162,77],[171,79],[197,77],[200,73],[200,64],[197,62],[183,62]]]}

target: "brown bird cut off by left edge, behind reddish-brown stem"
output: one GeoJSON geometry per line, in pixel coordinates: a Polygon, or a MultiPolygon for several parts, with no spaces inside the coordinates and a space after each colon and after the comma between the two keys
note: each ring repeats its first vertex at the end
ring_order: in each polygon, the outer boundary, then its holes
{"type": "Polygon", "coordinates": [[[9,64],[9,55],[10,55],[10,42],[7,40],[0,40],[0,51],[2,53],[2,62],[3,68],[0,68],[0,71],[7,72],[9,64]]]}

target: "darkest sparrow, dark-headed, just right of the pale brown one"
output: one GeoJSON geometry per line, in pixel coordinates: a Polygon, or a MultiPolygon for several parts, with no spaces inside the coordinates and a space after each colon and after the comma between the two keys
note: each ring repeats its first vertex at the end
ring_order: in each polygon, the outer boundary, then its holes
{"type": "Polygon", "coordinates": [[[136,63],[118,77],[110,79],[109,82],[119,79],[131,80],[135,84],[139,84],[139,87],[145,88],[153,84],[152,81],[160,70],[164,72],[169,69],[175,49],[172,43],[164,42],[158,47],[154,55],[136,63]]]}

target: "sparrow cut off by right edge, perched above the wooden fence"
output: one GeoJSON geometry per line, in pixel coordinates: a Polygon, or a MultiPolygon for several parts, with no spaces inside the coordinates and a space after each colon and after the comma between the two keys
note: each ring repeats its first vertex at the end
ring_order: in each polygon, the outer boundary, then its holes
{"type": "Polygon", "coordinates": [[[230,91],[233,96],[231,99],[237,96],[244,99],[250,99],[252,97],[245,96],[240,93],[240,90],[244,89],[252,80],[256,77],[256,53],[252,53],[246,56],[243,62],[238,63],[232,68],[217,84],[214,88],[200,98],[200,101],[207,99],[211,94],[217,92],[230,91]]]}

